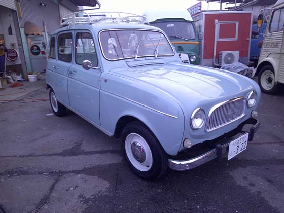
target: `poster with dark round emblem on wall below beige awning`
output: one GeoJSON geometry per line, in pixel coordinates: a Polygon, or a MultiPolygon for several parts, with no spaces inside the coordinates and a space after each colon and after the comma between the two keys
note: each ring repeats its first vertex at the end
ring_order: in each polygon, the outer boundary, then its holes
{"type": "Polygon", "coordinates": [[[45,49],[43,47],[44,38],[42,35],[28,35],[27,36],[29,56],[31,58],[45,57],[45,49]]]}

